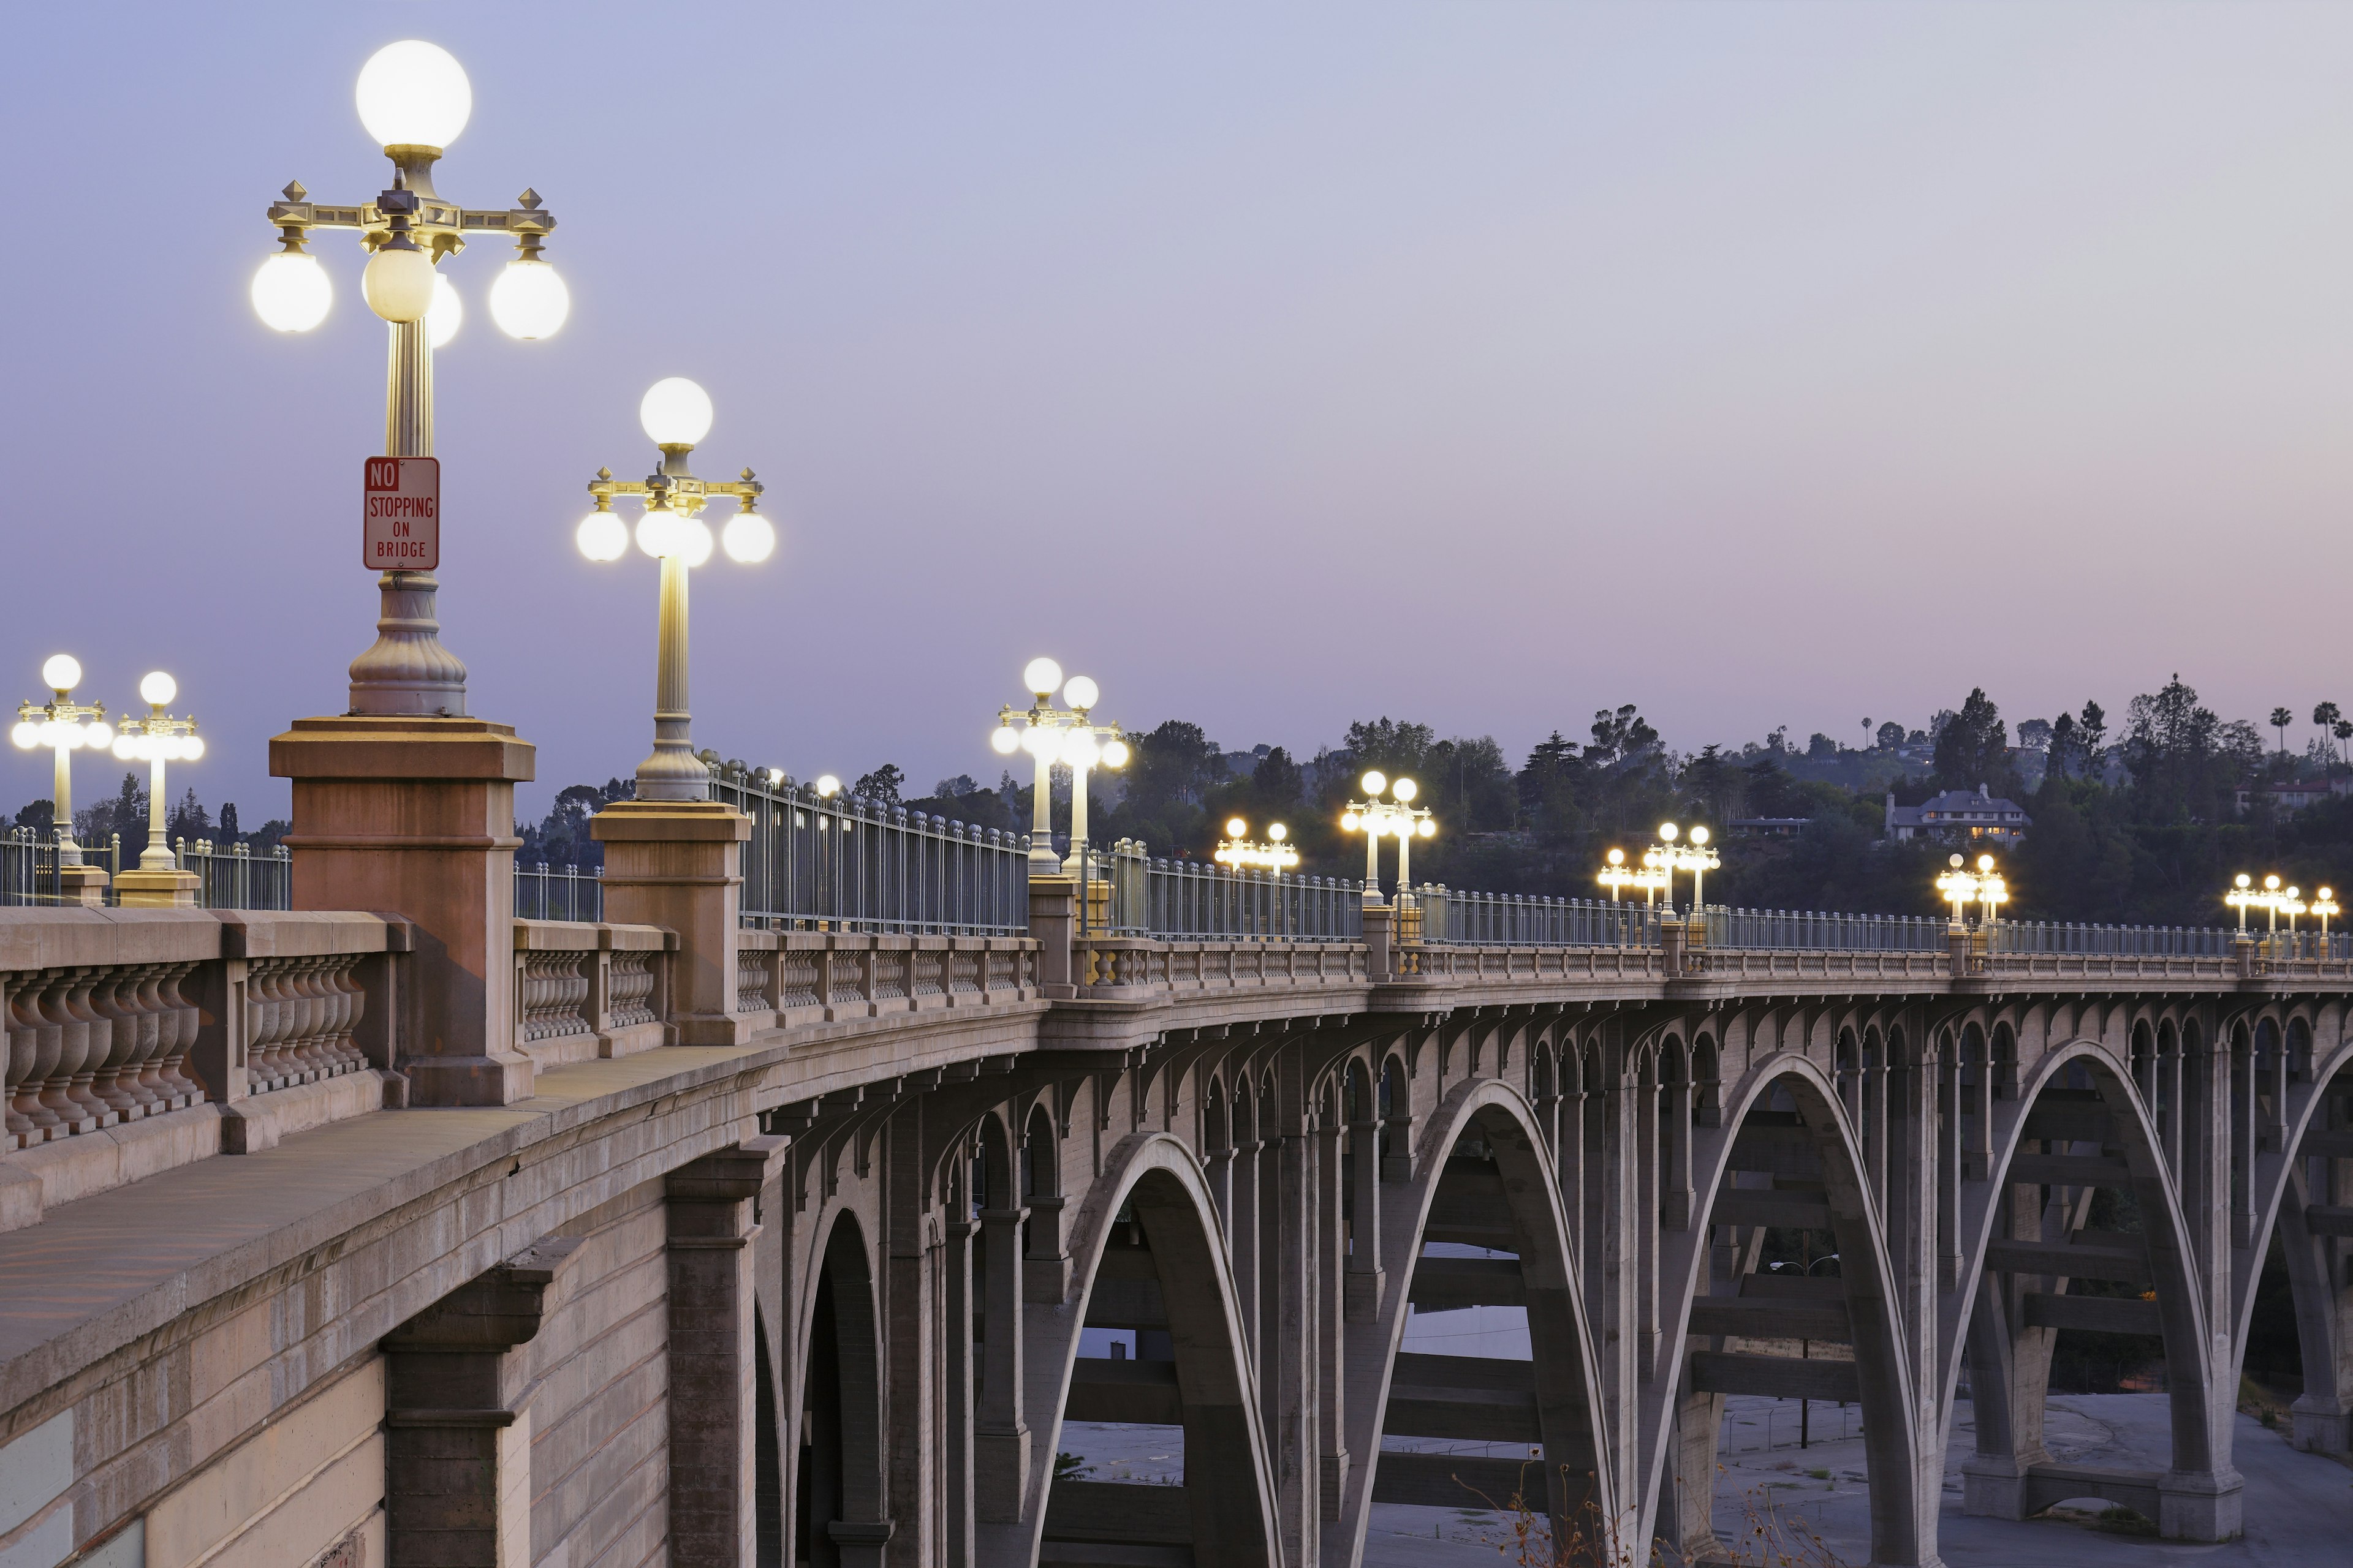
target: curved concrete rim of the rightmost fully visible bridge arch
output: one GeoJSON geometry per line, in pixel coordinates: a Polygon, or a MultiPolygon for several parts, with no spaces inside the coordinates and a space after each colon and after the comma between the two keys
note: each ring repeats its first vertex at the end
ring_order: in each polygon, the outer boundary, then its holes
{"type": "MultiPolygon", "coordinates": [[[[2129,1039],[2127,1039],[2129,1048],[2129,1039]]],[[[2101,1110],[2108,1112],[2118,1143],[2125,1150],[2125,1166],[2132,1194],[2141,1211],[2141,1232],[2148,1244],[2148,1272],[2158,1295],[2158,1321],[2165,1338],[2165,1361],[2172,1368],[2169,1406],[2174,1472],[2207,1474],[2228,1453],[2233,1401],[2221,1401],[2214,1410],[2214,1354],[2207,1333],[2207,1309],[2198,1288],[2198,1265],[2191,1248],[2188,1225],[2181,1211],[2181,1190],[2172,1166],[2165,1161],[2158,1140],[2158,1121],[2132,1081],[2129,1060],[2118,1060],[2099,1041],[2075,1039],[2045,1051],[2033,1072],[2017,1079],[2017,1093],[1993,1103],[1993,1138],[1988,1171],[1995,1180],[1965,1182],[1960,1204],[1960,1286],[1946,1295],[1941,1312],[1946,1349],[1939,1368],[1944,1382],[1944,1408],[1953,1410],[1960,1387],[1960,1366],[1969,1347],[1972,1316],[1981,1305],[1981,1281],[1986,1274],[1986,1251],[2000,1222],[2000,1199],[2009,1185],[2009,1168],[2019,1145],[2026,1140],[2026,1119],[2045,1091],[2054,1088],[2075,1063],[2082,1063],[2099,1093],[2101,1110]]],[[[1974,1382],[1972,1382],[1974,1387],[1974,1382]]],[[[1984,1418],[1979,1418],[1984,1422],[1984,1418]]]]}

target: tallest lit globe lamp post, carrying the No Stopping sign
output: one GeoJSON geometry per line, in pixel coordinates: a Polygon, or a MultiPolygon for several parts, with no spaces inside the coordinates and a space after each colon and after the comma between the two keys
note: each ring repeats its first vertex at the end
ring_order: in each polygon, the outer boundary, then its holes
{"type": "MultiPolygon", "coordinates": [[[[555,219],[525,190],[506,212],[468,209],[433,188],[433,165],[473,115],[464,66],[428,42],[376,49],[360,68],[360,122],[393,160],[393,183],[372,202],[313,202],[301,181],[271,205],[280,249],[254,273],[252,299],[278,331],[308,331],[327,317],[334,284],[304,244],[313,230],[351,228],[369,252],[360,294],[391,322],[384,393],[384,456],[433,456],[433,348],[456,331],[456,292],[435,263],[466,249],[468,235],[511,235],[515,259],[489,289],[489,313],[518,339],[544,339],[572,308],[555,268],[541,259],[555,219]]],[[[466,665],[440,644],[431,571],[386,571],[376,581],[376,642],[351,665],[351,712],[466,712],[466,665]]]]}

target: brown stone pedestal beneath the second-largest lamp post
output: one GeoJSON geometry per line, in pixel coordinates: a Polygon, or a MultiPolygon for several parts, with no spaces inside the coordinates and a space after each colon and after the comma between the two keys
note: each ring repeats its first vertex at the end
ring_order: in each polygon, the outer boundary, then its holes
{"type": "Polygon", "coordinates": [[[715,799],[621,799],[593,818],[605,846],[605,922],[678,933],[671,1023],[680,1046],[741,1046],[736,1013],[744,842],[751,818],[715,799]]]}

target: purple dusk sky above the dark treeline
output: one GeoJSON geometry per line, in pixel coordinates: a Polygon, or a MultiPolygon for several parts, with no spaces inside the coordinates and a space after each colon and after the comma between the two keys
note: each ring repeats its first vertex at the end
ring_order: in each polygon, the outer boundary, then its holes
{"type": "Polygon", "coordinates": [[[2348,7],[26,7],[0,696],[172,668],[249,825],[372,637],[384,327],[351,235],[322,329],[245,292],[285,181],[388,183],[398,38],[473,78],[442,195],[536,186],[572,284],[511,343],[478,242],[438,364],[534,816],[647,750],[654,567],[572,524],[668,374],[784,527],[694,578],[694,736],[800,776],[993,780],[1033,654],[1299,752],[2353,705],[2348,7]]]}

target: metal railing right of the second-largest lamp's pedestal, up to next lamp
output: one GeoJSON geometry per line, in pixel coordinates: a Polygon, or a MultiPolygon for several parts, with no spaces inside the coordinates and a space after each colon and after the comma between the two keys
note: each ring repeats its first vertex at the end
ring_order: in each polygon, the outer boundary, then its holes
{"type": "Polygon", "coordinates": [[[762,931],[1028,936],[1028,837],[906,806],[821,799],[715,766],[711,797],[751,818],[744,924],[762,931]]]}

